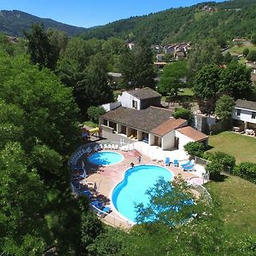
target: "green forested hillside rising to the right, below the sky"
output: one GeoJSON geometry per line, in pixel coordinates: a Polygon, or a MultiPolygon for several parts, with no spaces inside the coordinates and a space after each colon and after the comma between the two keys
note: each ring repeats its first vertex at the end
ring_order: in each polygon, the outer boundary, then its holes
{"type": "Polygon", "coordinates": [[[195,42],[198,39],[251,37],[256,32],[256,0],[200,3],[155,14],[118,20],[82,33],[81,37],[120,37],[136,40],[142,35],[151,44],[195,42]]]}

